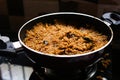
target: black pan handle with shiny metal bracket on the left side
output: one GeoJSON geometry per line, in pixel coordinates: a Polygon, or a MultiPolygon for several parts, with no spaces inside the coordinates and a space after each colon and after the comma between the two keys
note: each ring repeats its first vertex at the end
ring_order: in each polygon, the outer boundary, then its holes
{"type": "Polygon", "coordinates": [[[0,56],[15,57],[21,50],[23,50],[23,48],[19,41],[4,42],[0,39],[0,56]]]}

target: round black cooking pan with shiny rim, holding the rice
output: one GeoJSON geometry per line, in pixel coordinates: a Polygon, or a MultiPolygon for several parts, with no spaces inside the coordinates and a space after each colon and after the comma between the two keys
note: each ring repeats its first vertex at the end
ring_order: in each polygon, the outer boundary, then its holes
{"type": "MultiPolygon", "coordinates": [[[[39,66],[50,69],[82,69],[97,62],[103,55],[104,49],[111,43],[113,39],[113,31],[106,22],[87,14],[74,12],[57,12],[35,17],[27,21],[18,32],[19,41],[14,46],[19,45],[27,52],[28,58],[39,66]],[[101,48],[77,55],[52,55],[38,52],[26,46],[23,39],[26,37],[26,30],[30,30],[39,22],[54,24],[54,20],[62,23],[75,25],[76,27],[85,26],[86,24],[95,28],[96,31],[108,36],[108,43],[101,48]],[[20,43],[20,44],[18,44],[20,43]]],[[[18,47],[19,47],[18,46],[18,47]]],[[[18,48],[17,47],[17,48],[18,48]]]]}

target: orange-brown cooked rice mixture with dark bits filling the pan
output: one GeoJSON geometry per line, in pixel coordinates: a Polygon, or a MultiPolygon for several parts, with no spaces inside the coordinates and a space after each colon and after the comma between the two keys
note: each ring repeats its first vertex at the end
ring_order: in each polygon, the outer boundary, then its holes
{"type": "Polygon", "coordinates": [[[107,36],[94,29],[64,24],[38,23],[26,31],[24,43],[30,48],[55,55],[74,55],[94,51],[107,43],[107,36]]]}

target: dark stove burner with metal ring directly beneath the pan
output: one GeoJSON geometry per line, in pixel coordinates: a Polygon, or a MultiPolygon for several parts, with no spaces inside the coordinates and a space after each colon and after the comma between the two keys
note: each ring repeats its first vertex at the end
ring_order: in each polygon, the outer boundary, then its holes
{"type": "Polygon", "coordinates": [[[35,68],[29,80],[89,80],[97,71],[97,64],[83,70],[65,71],[35,68]]]}

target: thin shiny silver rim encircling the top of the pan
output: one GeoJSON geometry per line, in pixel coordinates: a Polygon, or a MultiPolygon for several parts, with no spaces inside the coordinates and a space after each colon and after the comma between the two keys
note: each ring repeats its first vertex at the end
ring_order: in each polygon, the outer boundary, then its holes
{"type": "Polygon", "coordinates": [[[22,44],[22,46],[24,46],[25,48],[27,48],[27,49],[29,49],[30,51],[35,52],[35,53],[37,53],[37,54],[41,54],[41,55],[45,55],[45,56],[51,56],[51,57],[63,57],[63,58],[67,58],[67,57],[68,57],[68,58],[69,58],[69,57],[86,56],[86,55],[94,54],[94,53],[96,53],[96,52],[99,52],[99,51],[101,51],[101,50],[104,50],[104,48],[107,47],[107,46],[111,43],[111,41],[112,41],[112,39],[113,39],[113,31],[112,31],[111,27],[110,27],[108,24],[106,24],[106,22],[104,22],[104,21],[102,21],[101,19],[99,19],[99,18],[97,18],[97,17],[95,17],[95,16],[92,16],[92,15],[88,15],[88,14],[84,14],[84,13],[77,13],[77,12],[55,12],[55,13],[48,13],[48,14],[44,14],[44,15],[41,15],[41,16],[37,16],[37,17],[35,17],[35,18],[32,18],[32,19],[28,20],[28,21],[27,21],[26,23],[24,23],[24,24],[22,25],[22,27],[19,29],[19,31],[18,31],[18,39],[19,39],[20,43],[22,44]],[[83,54],[75,54],[75,55],[54,55],[54,54],[47,54],[47,53],[43,53],[43,52],[40,52],[40,51],[36,51],[36,50],[34,50],[34,49],[31,49],[30,47],[26,46],[26,45],[24,44],[24,42],[21,40],[21,38],[20,38],[20,33],[21,33],[21,31],[22,31],[22,29],[24,28],[25,25],[29,24],[30,22],[32,22],[33,20],[36,20],[36,19],[38,19],[38,18],[47,17],[47,16],[51,16],[51,15],[62,15],[62,14],[72,14],[72,15],[86,16],[86,17],[90,17],[90,18],[96,19],[96,20],[104,23],[104,24],[109,28],[109,30],[110,30],[110,32],[111,32],[111,37],[110,37],[108,43],[106,43],[104,46],[102,46],[101,48],[99,48],[99,49],[97,49],[97,50],[94,50],[94,51],[91,51],[91,52],[87,52],[87,53],[83,53],[83,54]]]}

